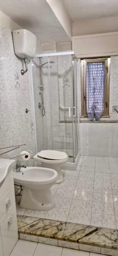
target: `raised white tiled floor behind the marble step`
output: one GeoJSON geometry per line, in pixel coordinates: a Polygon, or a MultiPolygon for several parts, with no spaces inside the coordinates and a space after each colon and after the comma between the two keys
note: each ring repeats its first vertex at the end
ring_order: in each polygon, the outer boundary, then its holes
{"type": "Polygon", "coordinates": [[[52,187],[52,210],[17,206],[17,214],[118,229],[118,158],[81,156],[77,171],[64,176],[52,187]]]}

